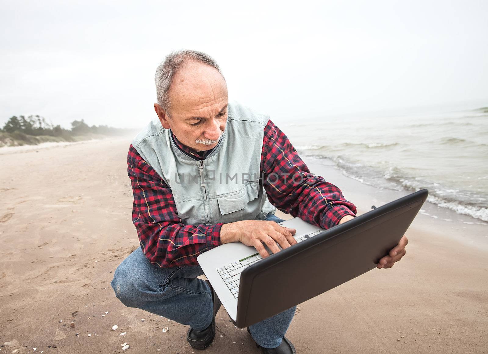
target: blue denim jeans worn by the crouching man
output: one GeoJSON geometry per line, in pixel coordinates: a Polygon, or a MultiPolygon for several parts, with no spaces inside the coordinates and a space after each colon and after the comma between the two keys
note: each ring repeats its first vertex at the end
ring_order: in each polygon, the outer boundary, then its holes
{"type": "MultiPolygon", "coordinates": [[[[273,214],[266,220],[283,221],[273,214]]],[[[198,265],[154,266],[138,248],[117,267],[110,285],[125,306],[137,307],[201,331],[212,322],[213,303],[210,288],[197,278],[199,275],[203,275],[203,271],[198,265]]],[[[295,309],[292,307],[250,326],[256,343],[264,348],[279,346],[295,309]]]]}

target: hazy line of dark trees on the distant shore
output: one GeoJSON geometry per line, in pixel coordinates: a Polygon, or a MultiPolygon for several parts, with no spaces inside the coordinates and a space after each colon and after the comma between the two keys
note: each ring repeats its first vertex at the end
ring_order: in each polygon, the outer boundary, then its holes
{"type": "Polygon", "coordinates": [[[128,129],[113,128],[107,125],[92,125],[89,126],[84,122],[84,119],[73,120],[71,122],[71,129],[64,129],[61,125],[54,125],[52,122],[47,122],[45,118],[39,115],[31,115],[27,118],[25,116],[13,116],[7,120],[0,132],[15,134],[23,133],[31,136],[51,136],[61,138],[71,138],[74,136],[86,135],[89,133],[102,135],[118,135],[123,134],[128,129]]]}

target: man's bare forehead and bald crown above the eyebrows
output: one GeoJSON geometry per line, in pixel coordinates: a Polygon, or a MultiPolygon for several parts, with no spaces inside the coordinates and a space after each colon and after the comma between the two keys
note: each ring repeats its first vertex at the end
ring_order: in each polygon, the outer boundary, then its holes
{"type": "Polygon", "coordinates": [[[190,61],[173,77],[169,98],[173,113],[218,113],[227,104],[227,85],[213,67],[190,61]]]}

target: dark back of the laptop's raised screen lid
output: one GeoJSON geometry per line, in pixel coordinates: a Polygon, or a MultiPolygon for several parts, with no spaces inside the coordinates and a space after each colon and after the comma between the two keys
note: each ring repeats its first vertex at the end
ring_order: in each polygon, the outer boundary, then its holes
{"type": "Polygon", "coordinates": [[[241,274],[237,327],[244,328],[376,268],[405,234],[426,189],[289,247],[241,274]]]}

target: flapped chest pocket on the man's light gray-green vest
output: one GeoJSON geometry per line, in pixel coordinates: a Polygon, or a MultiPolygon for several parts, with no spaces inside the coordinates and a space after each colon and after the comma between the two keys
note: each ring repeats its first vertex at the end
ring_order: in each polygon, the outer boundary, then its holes
{"type": "Polygon", "coordinates": [[[254,200],[259,197],[258,192],[258,181],[253,181],[246,183],[240,191],[216,196],[222,222],[253,220],[260,211],[259,205],[256,206],[259,199],[254,200]]]}

